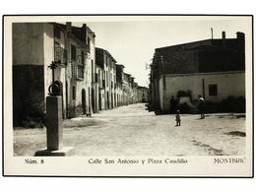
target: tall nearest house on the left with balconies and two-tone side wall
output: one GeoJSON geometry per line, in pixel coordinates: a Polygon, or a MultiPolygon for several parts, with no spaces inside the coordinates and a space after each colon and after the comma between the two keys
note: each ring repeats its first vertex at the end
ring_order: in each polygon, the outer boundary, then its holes
{"type": "Polygon", "coordinates": [[[71,23],[14,23],[12,35],[14,125],[43,118],[52,61],[59,63],[54,76],[63,87],[63,117],[92,111],[94,32],[71,23]]]}

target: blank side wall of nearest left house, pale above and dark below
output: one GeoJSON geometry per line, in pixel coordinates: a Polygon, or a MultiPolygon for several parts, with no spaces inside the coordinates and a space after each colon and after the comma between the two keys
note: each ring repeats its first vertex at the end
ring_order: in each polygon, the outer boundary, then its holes
{"type": "MultiPolygon", "coordinates": [[[[53,33],[53,26],[47,23],[13,24],[14,124],[28,117],[43,118],[51,83],[51,78],[45,78],[51,75],[47,66],[54,58],[53,33]]],[[[61,72],[60,69],[58,79],[61,72]]]]}

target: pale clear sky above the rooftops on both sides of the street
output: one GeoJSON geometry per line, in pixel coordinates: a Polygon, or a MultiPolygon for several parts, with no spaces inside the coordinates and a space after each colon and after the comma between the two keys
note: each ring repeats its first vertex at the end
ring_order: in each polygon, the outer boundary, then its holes
{"type": "Polygon", "coordinates": [[[87,22],[96,33],[96,47],[106,49],[118,64],[125,66],[124,72],[131,74],[139,86],[149,86],[150,69],[155,48],[196,40],[235,38],[236,32],[248,32],[251,25],[240,18],[226,17],[222,20],[179,18],[178,20],[104,21],[87,22]],[[186,20],[185,20],[186,19],[186,20]]]}

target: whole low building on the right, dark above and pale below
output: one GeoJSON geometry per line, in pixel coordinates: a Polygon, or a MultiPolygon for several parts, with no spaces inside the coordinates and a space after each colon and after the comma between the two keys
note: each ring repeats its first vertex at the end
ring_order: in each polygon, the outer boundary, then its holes
{"type": "Polygon", "coordinates": [[[171,96],[180,100],[187,95],[187,102],[198,95],[214,102],[245,96],[244,33],[236,34],[157,48],[151,66],[152,105],[167,112],[171,96]]]}

